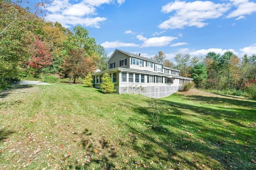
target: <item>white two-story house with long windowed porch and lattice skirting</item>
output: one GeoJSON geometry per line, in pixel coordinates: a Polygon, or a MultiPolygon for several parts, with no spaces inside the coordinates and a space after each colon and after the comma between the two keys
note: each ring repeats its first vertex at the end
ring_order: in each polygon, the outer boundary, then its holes
{"type": "Polygon", "coordinates": [[[180,70],[162,63],[116,49],[108,59],[108,69],[92,73],[95,88],[100,88],[104,73],[110,74],[114,88],[119,94],[142,94],[151,98],[169,96],[183,83],[193,79],[179,76],[180,70]]]}

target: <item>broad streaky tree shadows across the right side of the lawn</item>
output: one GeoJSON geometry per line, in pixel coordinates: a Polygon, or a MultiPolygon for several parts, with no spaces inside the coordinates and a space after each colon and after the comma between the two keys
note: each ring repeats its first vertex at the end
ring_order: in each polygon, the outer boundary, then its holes
{"type": "MultiPolygon", "coordinates": [[[[186,102],[160,99],[163,110],[160,125],[167,127],[166,131],[152,132],[148,129],[145,132],[126,123],[131,133],[140,134],[140,138],[149,141],[138,145],[133,139],[131,145],[134,150],[155,161],[171,162],[174,168],[179,168],[180,164],[191,169],[204,169],[204,166],[212,169],[256,168],[250,162],[256,155],[256,128],[242,122],[256,120],[256,102],[203,96],[179,97],[185,98],[186,102]],[[198,103],[207,105],[198,106],[198,103]],[[156,136],[160,136],[159,139],[156,136]]],[[[134,104],[130,107],[150,119],[148,108],[134,104]]],[[[143,123],[145,120],[138,121],[143,123]]]]}

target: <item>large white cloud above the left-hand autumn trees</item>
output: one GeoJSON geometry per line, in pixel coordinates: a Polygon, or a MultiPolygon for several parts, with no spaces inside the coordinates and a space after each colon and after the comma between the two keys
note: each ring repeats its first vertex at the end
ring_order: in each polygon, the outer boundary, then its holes
{"type": "MultiPolygon", "coordinates": [[[[102,4],[110,4],[114,0],[54,0],[46,6],[49,14],[45,17],[46,20],[60,22],[64,27],[74,25],[82,25],[86,27],[100,28],[100,23],[107,20],[105,17],[95,16],[96,8],[102,4]]],[[[122,4],[125,0],[117,0],[118,4],[122,4]]]]}

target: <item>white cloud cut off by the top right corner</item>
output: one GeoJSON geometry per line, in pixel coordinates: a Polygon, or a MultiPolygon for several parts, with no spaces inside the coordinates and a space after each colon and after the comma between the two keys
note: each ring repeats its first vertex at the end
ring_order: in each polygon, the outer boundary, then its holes
{"type": "Polygon", "coordinates": [[[228,14],[227,18],[240,17],[256,12],[256,3],[249,0],[230,0],[232,4],[237,6],[237,9],[228,14]]]}

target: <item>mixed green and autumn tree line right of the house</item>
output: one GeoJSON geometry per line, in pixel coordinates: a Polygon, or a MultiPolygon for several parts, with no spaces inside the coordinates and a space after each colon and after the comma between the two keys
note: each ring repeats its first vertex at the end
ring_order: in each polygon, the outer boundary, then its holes
{"type": "Polygon", "coordinates": [[[239,58],[231,51],[223,55],[209,52],[204,57],[178,53],[170,62],[160,51],[152,59],[180,70],[180,76],[193,78],[196,88],[256,98],[256,54],[239,58]]]}

